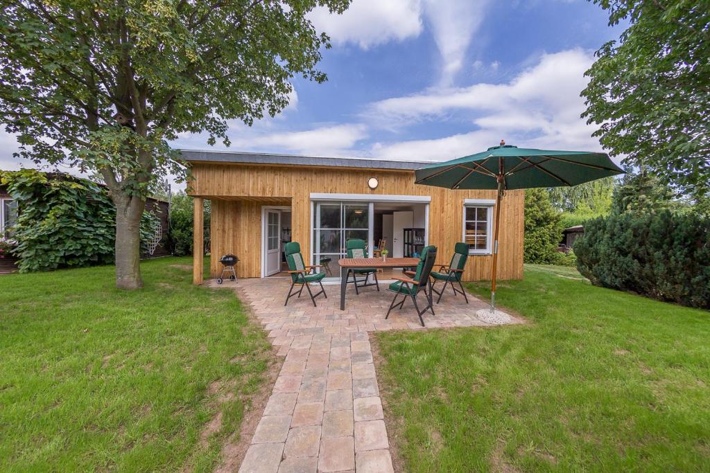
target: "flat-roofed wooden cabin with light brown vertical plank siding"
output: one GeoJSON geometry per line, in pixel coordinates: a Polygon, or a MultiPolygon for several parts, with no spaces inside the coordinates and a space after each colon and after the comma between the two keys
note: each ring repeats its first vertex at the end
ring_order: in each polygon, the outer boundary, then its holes
{"type": "MultiPolygon", "coordinates": [[[[469,243],[464,279],[490,279],[494,190],[450,190],[415,184],[427,162],[182,150],[190,162],[188,193],[195,197],[195,247],[202,246],[203,200],[212,202],[209,273],[222,272],[219,257],[239,257],[239,277],[285,274],[283,245],[301,252],[327,277],[348,238],[382,242],[391,257],[417,256],[424,245],[449,264],[457,242],[469,243]]],[[[508,191],[501,207],[498,278],[523,277],[524,191],[508,191]]],[[[202,255],[193,279],[202,282],[202,255]]],[[[386,276],[386,275],[385,275],[386,276]]]]}

